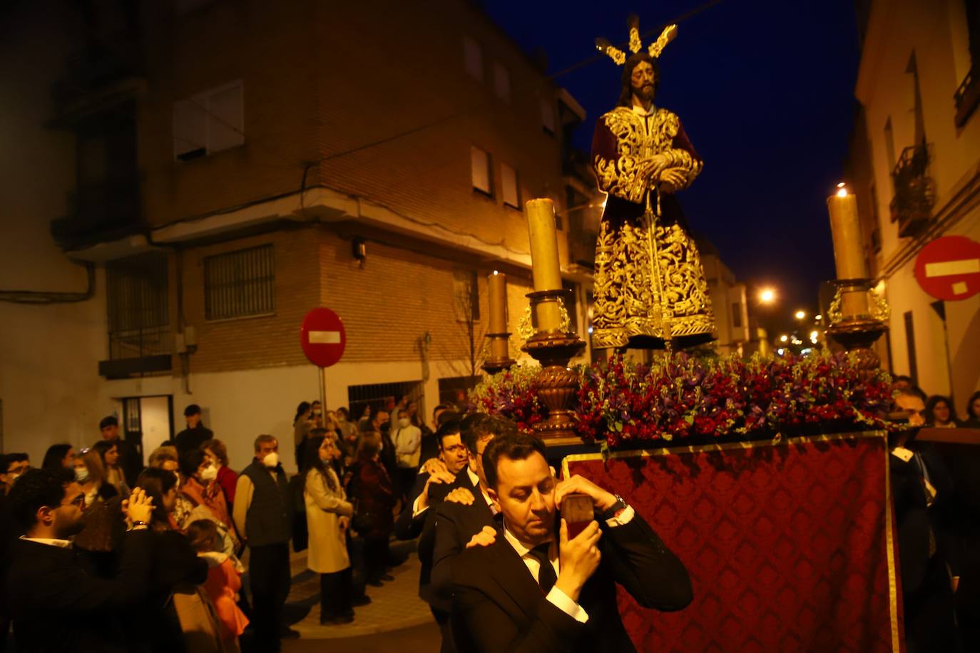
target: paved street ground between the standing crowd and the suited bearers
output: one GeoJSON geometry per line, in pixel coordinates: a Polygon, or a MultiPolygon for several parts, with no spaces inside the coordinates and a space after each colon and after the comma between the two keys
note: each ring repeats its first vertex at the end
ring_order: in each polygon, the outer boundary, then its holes
{"type": "Polygon", "coordinates": [[[393,542],[392,552],[408,554],[408,560],[390,573],[394,581],[382,587],[368,587],[370,605],[355,610],[354,622],[346,626],[319,625],[319,576],[306,568],[306,552],[292,558],[293,585],[286,604],[287,620],[299,630],[299,640],[284,641],[283,651],[323,650],[329,642],[331,653],[347,651],[393,650],[400,653],[435,651],[439,648],[439,629],[428,605],[418,598],[418,558],[415,542],[393,542]]]}

